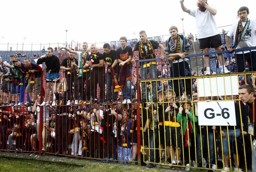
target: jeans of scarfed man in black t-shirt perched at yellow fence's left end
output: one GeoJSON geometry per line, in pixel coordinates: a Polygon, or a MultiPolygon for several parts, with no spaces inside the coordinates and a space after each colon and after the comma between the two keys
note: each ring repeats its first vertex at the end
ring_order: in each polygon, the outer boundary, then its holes
{"type": "MultiPolygon", "coordinates": [[[[150,74],[151,79],[157,79],[157,72],[156,72],[156,64],[151,64],[149,67],[143,68],[143,65],[140,69],[140,77],[141,80],[148,79],[148,72],[150,74]]],[[[152,98],[157,98],[156,96],[156,81],[153,81],[152,83],[152,98]]],[[[142,89],[142,99],[146,99],[146,82],[141,82],[141,89],[142,89]]]]}

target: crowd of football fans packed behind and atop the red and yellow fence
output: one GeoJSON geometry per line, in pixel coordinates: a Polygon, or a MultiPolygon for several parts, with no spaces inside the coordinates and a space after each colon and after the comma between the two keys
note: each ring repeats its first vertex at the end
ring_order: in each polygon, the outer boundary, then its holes
{"type": "MultiPolygon", "coordinates": [[[[194,10],[186,8],[184,0],[180,4],[183,11],[196,18],[196,41],[203,52],[208,53],[209,48],[220,52],[220,35],[212,18],[217,12],[215,7],[207,1],[198,1],[194,10]],[[207,14],[204,19],[200,18],[202,12],[207,14]],[[210,31],[203,30],[204,22],[210,31]]],[[[256,22],[249,20],[248,14],[247,7],[238,10],[240,20],[226,36],[229,52],[256,46],[256,22]],[[249,29],[254,34],[248,35],[249,29]],[[235,42],[230,47],[229,38],[233,35],[235,42]]],[[[34,61],[26,57],[21,62],[16,55],[10,56],[10,64],[0,59],[1,151],[40,151],[109,163],[135,164],[141,157],[141,165],[153,168],[165,164],[172,170],[233,167],[242,171],[243,166],[255,171],[255,49],[236,51],[233,65],[230,61],[224,64],[222,54],[216,55],[222,74],[219,76],[233,72],[244,75],[239,83],[240,99],[238,95],[199,97],[198,77],[186,56],[194,37],[191,35],[190,40],[178,34],[176,26],[171,26],[169,32],[165,46],[148,40],[146,32],[140,31],[140,41],[133,48],[126,45],[127,38],[122,36],[121,47],[114,50],[106,43],[104,53],[94,44],[89,52],[86,42],[82,51],[60,47],[68,51],[61,62],[50,47],[46,55],[34,61]],[[157,61],[156,49],[160,49],[157,61]],[[135,65],[137,51],[139,65],[135,65]],[[202,115],[198,114],[198,102],[232,100],[236,126],[198,124],[198,116],[202,115]],[[138,151],[138,144],[143,151],[138,151]]],[[[203,60],[202,74],[210,77],[213,73],[209,55],[204,55],[203,60]]]]}

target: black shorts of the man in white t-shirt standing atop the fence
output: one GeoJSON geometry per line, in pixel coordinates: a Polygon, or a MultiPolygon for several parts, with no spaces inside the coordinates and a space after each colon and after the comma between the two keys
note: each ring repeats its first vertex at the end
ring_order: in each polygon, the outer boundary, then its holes
{"type": "Polygon", "coordinates": [[[222,45],[220,34],[199,39],[200,49],[214,48],[222,45]]]}

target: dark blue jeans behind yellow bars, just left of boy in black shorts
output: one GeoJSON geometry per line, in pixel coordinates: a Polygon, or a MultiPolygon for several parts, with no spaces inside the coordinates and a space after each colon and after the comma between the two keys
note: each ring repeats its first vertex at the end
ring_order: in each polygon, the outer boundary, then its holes
{"type": "Polygon", "coordinates": [[[155,133],[153,130],[148,130],[149,131],[149,158],[150,162],[159,162],[159,151],[158,151],[158,130],[155,129],[155,133]],[[154,135],[155,134],[155,135],[154,135]],[[155,146],[154,146],[155,144],[155,146]],[[155,149],[156,150],[155,150],[155,149]]]}

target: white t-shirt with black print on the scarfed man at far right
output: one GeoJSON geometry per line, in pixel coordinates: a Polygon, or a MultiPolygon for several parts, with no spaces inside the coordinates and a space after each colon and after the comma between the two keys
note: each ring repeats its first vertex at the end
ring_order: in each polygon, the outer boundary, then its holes
{"type": "MultiPolygon", "coordinates": [[[[244,27],[246,22],[242,22],[242,26],[244,27]]],[[[238,22],[234,23],[231,28],[228,31],[228,36],[234,36],[234,41],[236,39],[236,29],[238,26],[238,22]]],[[[244,38],[239,42],[236,49],[242,49],[242,48],[248,48],[248,47],[255,47],[256,46],[256,21],[250,20],[250,25],[244,34],[244,38]]],[[[256,51],[256,49],[253,49],[252,51],[256,51]]],[[[249,53],[250,51],[244,51],[244,53],[249,53]]],[[[237,54],[242,54],[243,51],[236,52],[237,54]]]]}

